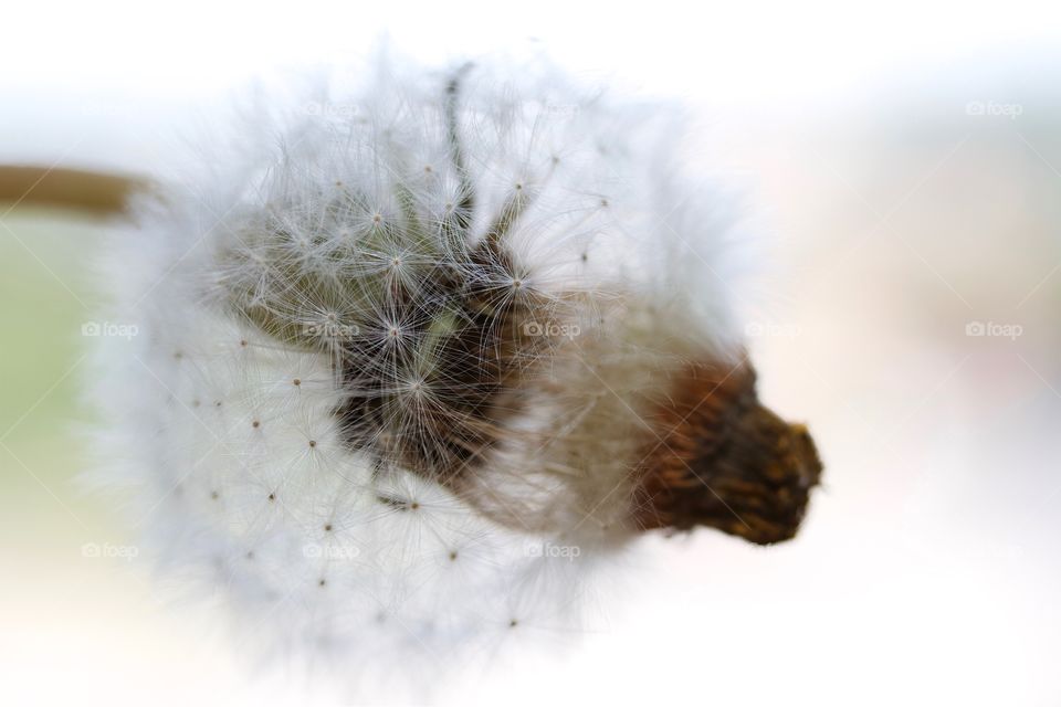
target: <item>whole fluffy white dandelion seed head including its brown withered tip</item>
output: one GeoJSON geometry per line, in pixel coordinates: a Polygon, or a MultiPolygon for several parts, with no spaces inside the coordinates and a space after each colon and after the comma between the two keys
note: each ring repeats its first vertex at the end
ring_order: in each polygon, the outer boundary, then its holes
{"type": "Polygon", "coordinates": [[[140,336],[101,340],[103,476],[170,577],[364,669],[575,629],[653,529],[795,534],[820,465],[757,402],[739,212],[669,112],[489,64],[288,107],[106,256],[140,336]]]}

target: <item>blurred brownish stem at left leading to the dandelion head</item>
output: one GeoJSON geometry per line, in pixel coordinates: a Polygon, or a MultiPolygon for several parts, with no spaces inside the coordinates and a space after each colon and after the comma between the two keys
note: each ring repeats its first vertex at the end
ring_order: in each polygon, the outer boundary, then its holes
{"type": "Polygon", "coordinates": [[[0,165],[0,203],[71,209],[93,215],[123,213],[129,196],[146,189],[132,176],[55,167],[0,165]]]}

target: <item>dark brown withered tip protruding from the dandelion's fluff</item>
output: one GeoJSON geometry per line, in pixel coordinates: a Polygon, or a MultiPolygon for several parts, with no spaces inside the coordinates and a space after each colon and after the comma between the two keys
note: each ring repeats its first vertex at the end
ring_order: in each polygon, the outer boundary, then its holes
{"type": "Polygon", "coordinates": [[[717,528],[756,544],[792,538],[822,465],[803,425],[759,403],[748,365],[693,365],[649,420],[635,521],[717,528]]]}

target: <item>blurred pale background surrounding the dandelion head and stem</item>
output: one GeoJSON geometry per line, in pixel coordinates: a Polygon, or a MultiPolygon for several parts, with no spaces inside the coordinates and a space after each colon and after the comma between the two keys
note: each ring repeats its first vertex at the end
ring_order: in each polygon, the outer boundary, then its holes
{"type": "MultiPolygon", "coordinates": [[[[572,6],[22,3],[0,165],[164,173],[250,77],[381,35],[431,62],[529,45],[681,98],[705,169],[754,188],[773,243],[742,304],[761,392],[809,421],[826,485],[784,546],[650,540],[661,561],[610,631],[440,701],[1061,704],[1059,17],[572,6]]],[[[106,229],[0,204],[0,701],[325,701],[248,671],[214,618],[101,550],[135,549],[76,481],[106,229]]]]}

